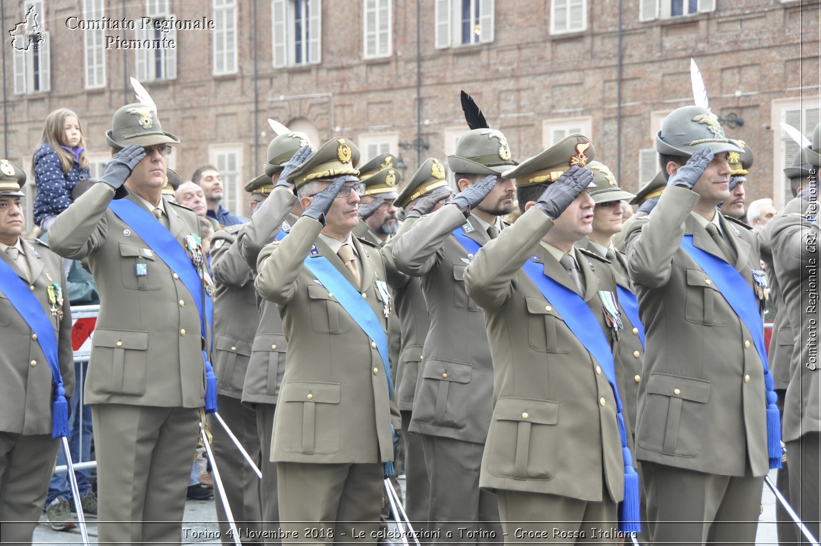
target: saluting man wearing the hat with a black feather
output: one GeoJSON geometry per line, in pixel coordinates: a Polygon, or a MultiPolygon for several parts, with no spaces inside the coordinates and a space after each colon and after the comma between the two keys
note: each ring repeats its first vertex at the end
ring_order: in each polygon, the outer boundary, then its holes
{"type": "MultiPolygon", "coordinates": [[[[501,541],[493,493],[479,490],[479,465],[488,434],[493,364],[482,309],[465,292],[465,266],[475,252],[456,234],[483,245],[504,228],[516,189],[501,174],[511,160],[507,138],[495,129],[474,129],[459,138],[447,163],[460,193],[425,215],[393,248],[397,269],[420,277],[430,327],[422,352],[413,418],[408,430],[420,434],[430,477],[430,525],[442,540],[501,541]],[[460,527],[469,537],[460,536],[460,527]]],[[[426,212],[426,211],[425,211],[426,212]]]]}

